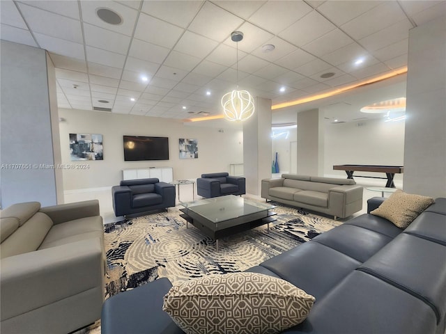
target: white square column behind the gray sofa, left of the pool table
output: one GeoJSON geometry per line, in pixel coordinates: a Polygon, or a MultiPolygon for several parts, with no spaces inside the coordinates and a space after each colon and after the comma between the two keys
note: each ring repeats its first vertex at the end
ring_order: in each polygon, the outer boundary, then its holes
{"type": "Polygon", "coordinates": [[[298,113],[297,173],[323,176],[323,115],[319,109],[298,113]]]}

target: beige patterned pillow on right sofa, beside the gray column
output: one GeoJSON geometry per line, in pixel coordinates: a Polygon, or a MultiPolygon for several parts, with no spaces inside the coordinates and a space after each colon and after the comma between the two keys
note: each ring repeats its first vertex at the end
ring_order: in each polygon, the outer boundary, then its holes
{"type": "Polygon", "coordinates": [[[388,219],[399,228],[407,228],[433,202],[431,197],[404,193],[398,189],[370,213],[388,219]]]}

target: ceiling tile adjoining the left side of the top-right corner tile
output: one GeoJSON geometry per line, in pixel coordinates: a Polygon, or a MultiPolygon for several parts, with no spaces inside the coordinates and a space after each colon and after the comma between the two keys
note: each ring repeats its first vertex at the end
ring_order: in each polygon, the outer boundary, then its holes
{"type": "Polygon", "coordinates": [[[360,40],[405,18],[406,15],[404,15],[397,1],[384,1],[366,13],[343,24],[341,29],[355,40],[360,40]]]}

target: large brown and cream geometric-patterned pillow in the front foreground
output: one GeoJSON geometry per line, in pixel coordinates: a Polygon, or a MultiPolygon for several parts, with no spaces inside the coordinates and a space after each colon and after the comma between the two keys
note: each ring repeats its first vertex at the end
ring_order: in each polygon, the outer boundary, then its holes
{"type": "Polygon", "coordinates": [[[187,334],[272,334],[304,321],[314,300],[286,280],[226,273],[171,287],[162,309],[187,334]]]}

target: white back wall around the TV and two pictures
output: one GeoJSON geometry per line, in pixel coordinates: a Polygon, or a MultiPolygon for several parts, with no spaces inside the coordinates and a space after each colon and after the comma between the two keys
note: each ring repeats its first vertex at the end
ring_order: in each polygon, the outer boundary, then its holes
{"type": "Polygon", "coordinates": [[[174,179],[196,179],[202,173],[229,172],[229,164],[243,161],[240,130],[193,127],[171,119],[130,116],[98,111],[59,109],[66,122],[59,123],[63,164],[86,164],[88,169],[63,170],[64,190],[113,186],[125,168],[174,168],[174,179]],[[102,134],[104,160],[70,161],[69,134],[102,134]],[[124,161],[123,135],[169,137],[168,161],[124,161]],[[198,159],[179,159],[179,138],[198,141],[198,159]]]}

